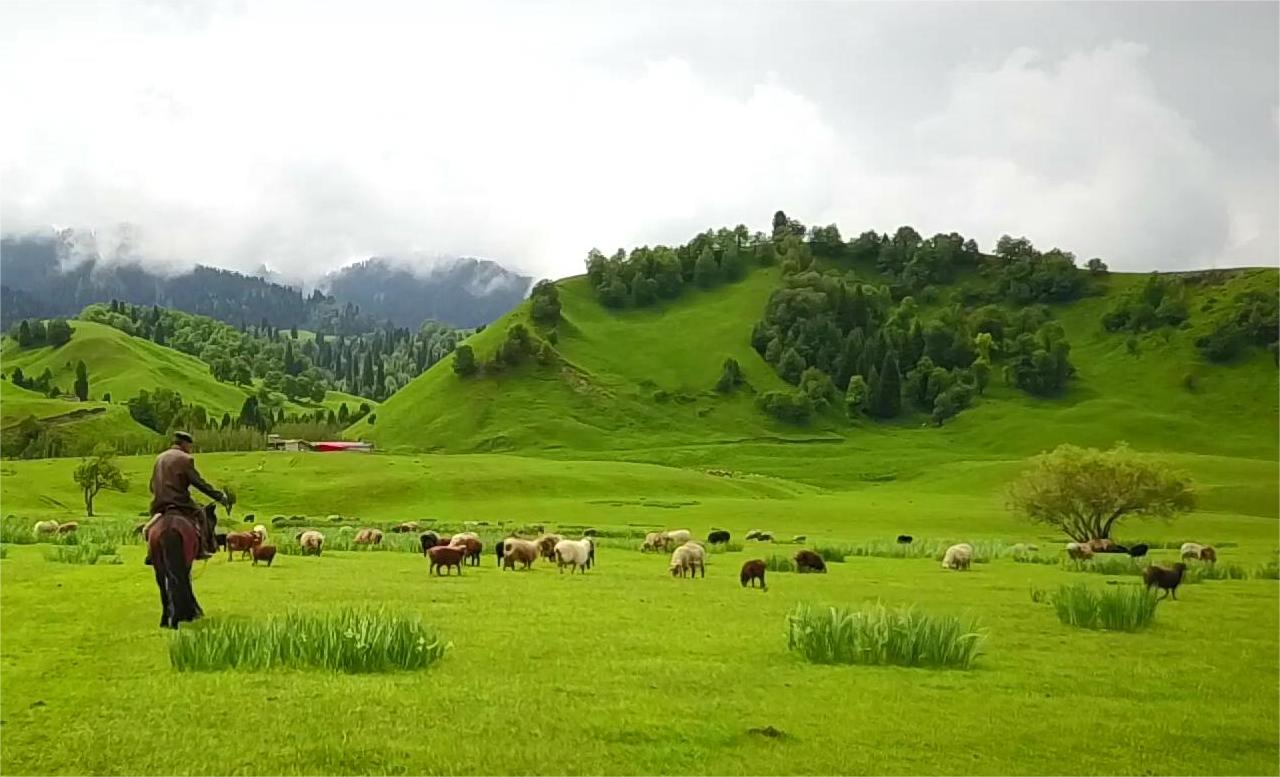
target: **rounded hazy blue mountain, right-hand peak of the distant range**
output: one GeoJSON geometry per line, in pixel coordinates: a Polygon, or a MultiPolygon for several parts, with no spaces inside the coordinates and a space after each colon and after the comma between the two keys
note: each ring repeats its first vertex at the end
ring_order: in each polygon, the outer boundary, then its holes
{"type": "Polygon", "coordinates": [[[532,282],[502,265],[479,259],[456,259],[426,270],[411,270],[394,260],[375,257],[330,273],[329,294],[397,326],[424,321],[479,326],[507,312],[532,282]]]}

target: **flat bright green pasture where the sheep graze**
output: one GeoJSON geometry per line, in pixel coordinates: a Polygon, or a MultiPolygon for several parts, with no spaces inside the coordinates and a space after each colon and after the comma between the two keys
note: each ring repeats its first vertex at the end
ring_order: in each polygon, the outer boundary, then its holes
{"type": "MultiPolygon", "coordinates": [[[[1061,541],[1000,508],[1012,465],[975,462],[929,479],[831,489],[755,475],[515,456],[207,454],[259,521],[306,515],[347,525],[485,521],[590,525],[605,534],[727,527],[809,544],[919,540],[1061,541]],[[378,472],[375,475],[375,472],[378,472]]],[[[125,458],[134,483],[145,458],[125,458]]],[[[739,462],[740,463],[740,462],[739,462]]],[[[4,512],[28,527],[74,517],[68,461],[5,462],[4,512]],[[68,506],[64,508],[63,506],[68,506]]],[[[1247,463],[1244,466],[1248,466],[1247,463]]],[[[1257,477],[1204,467],[1206,485],[1257,477]],[[1215,472],[1219,475],[1215,476],[1215,472]]],[[[1271,463],[1274,490],[1274,462],[1271,463]]],[[[1129,541],[1220,545],[1220,565],[1276,559],[1268,489],[1210,501],[1176,522],[1134,522],[1129,541]]],[[[96,527],[132,525],[142,495],[104,494],[96,527]]],[[[298,527],[273,530],[278,544],[298,527]]],[[[87,536],[87,535],[86,535],[87,536]]],[[[404,538],[411,541],[411,538],[404,538]]],[[[404,541],[396,538],[397,541],[404,541]]],[[[388,540],[392,541],[390,539],[388,540]]],[[[1249,579],[1187,585],[1137,634],[1064,626],[1033,589],[1135,577],[998,558],[969,573],[929,558],[855,558],[820,575],[771,573],[742,590],[741,561],[796,545],[746,543],[713,554],[705,580],[673,580],[664,556],[607,538],[598,567],[571,577],[539,563],[500,572],[488,552],[434,579],[415,553],[328,552],[253,568],[219,557],[196,571],[209,622],[293,609],[384,604],[420,614],[452,648],[424,672],[182,673],[141,548],[119,566],[46,561],[5,545],[4,773],[1277,773],[1280,588],[1249,579]],[[915,604],[980,621],[972,671],[824,667],[786,646],[797,603],[915,604]],[[86,717],[84,709],[96,714],[86,717]],[[317,714],[319,709],[334,713],[317,714]],[[148,731],[173,719],[234,721],[172,748],[148,731]],[[773,727],[782,736],[753,733],[773,727]],[[1079,745],[1089,732],[1089,746],[1079,745]],[[1012,735],[1011,732],[1016,732],[1012,735]],[[60,737],[74,736],[74,749],[60,737]],[[465,741],[465,746],[460,746],[465,741]]],[[[1157,561],[1172,550],[1153,552],[1157,561]]],[[[198,627],[198,626],[196,626],[198,627]]]]}

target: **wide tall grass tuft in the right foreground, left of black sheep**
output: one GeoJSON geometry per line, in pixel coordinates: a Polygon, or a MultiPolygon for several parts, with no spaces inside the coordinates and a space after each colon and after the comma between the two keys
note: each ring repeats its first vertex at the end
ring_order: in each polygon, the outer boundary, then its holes
{"type": "Polygon", "coordinates": [[[977,623],[914,607],[814,608],[787,617],[787,648],[810,663],[952,667],[966,669],[982,653],[977,623]]]}

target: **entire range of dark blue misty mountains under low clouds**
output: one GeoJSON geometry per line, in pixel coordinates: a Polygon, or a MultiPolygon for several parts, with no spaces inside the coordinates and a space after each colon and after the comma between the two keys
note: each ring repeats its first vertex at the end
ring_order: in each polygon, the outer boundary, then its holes
{"type": "Polygon", "coordinates": [[[337,298],[305,296],[292,285],[218,268],[161,274],[132,259],[104,261],[83,238],[63,230],[0,239],[0,328],[24,317],[73,316],[111,300],[236,326],[265,321],[333,334],[370,332],[387,320],[412,328],[428,320],[476,326],[520,302],[530,280],[489,261],[458,260],[415,275],[374,259],[330,275],[337,298]]]}

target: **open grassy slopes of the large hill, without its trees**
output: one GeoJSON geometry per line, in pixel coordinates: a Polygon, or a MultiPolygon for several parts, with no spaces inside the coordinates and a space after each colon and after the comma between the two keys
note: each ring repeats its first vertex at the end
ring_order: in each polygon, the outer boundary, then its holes
{"type": "MultiPolygon", "coordinates": [[[[1199,356],[1194,340],[1208,325],[1211,301],[1245,289],[1274,293],[1276,271],[1188,283],[1190,317],[1181,328],[1133,342],[1103,330],[1102,315],[1144,278],[1112,274],[1098,282],[1098,293],[1052,306],[1076,367],[1062,397],[1034,397],[993,375],[986,396],[941,429],[922,428],[923,413],[849,422],[831,412],[794,426],[759,411],[753,392],[785,385],[749,342],[781,282],[777,269],[621,311],[603,307],[585,278],[571,278],[558,284],[559,364],[530,361],[497,375],[460,378],[445,360],[383,403],[374,426],[349,434],[389,449],[590,451],[677,465],[746,465],[809,480],[874,479],[905,462],[931,466],[961,456],[1021,457],[1065,442],[1125,440],[1143,449],[1274,461],[1280,413],[1272,356],[1254,351],[1215,365],[1199,356]],[[713,390],[726,357],[739,361],[753,392],[724,397],[713,390]],[[727,442],[739,444],[730,451],[727,442]],[[809,452],[777,457],[774,442],[805,444],[809,452]],[[751,444],[759,444],[756,453],[751,444]]],[[[477,361],[489,360],[517,321],[529,324],[527,301],[467,340],[477,361]]]]}

